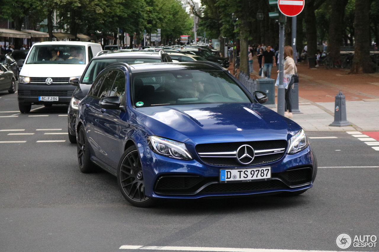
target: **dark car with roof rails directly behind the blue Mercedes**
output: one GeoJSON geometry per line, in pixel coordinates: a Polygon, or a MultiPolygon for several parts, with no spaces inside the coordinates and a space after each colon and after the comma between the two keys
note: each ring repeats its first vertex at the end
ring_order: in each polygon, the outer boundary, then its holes
{"type": "MultiPolygon", "coordinates": [[[[100,54],[100,53],[99,53],[100,54]]],[[[77,117],[77,109],[80,100],[82,100],[91,88],[92,82],[99,73],[108,65],[124,62],[129,65],[146,63],[146,62],[172,62],[170,56],[162,50],[159,53],[150,52],[111,52],[96,56],[88,64],[79,79],[72,79],[71,84],[77,86],[72,94],[71,102],[68,109],[68,136],[71,143],[76,143],[75,121],[77,117]]]]}

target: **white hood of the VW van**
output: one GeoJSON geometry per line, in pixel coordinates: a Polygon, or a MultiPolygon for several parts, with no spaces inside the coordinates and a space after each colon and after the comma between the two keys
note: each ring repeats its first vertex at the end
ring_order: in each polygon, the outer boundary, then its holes
{"type": "Polygon", "coordinates": [[[24,64],[20,75],[28,77],[74,77],[81,76],[85,64],[24,64]]]}

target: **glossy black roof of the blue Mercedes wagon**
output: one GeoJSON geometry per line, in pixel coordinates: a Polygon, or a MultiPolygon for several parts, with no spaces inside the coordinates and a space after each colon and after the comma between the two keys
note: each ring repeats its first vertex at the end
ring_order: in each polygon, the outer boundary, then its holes
{"type": "Polygon", "coordinates": [[[224,69],[210,62],[164,62],[164,63],[140,63],[130,65],[132,73],[171,71],[171,70],[218,70],[224,69]]]}

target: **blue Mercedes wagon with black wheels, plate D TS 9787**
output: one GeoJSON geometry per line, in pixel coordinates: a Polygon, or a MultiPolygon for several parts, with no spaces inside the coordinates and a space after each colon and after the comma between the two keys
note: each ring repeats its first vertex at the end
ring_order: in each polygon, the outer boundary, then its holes
{"type": "Polygon", "coordinates": [[[304,193],[317,171],[307,136],[265,101],[211,62],[110,65],[78,104],[80,171],[113,174],[138,207],[304,193]]]}

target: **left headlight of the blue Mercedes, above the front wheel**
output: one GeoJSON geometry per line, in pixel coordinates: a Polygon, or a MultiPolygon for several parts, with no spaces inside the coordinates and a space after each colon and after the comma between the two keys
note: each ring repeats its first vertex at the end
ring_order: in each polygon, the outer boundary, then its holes
{"type": "Polygon", "coordinates": [[[193,159],[184,143],[157,137],[155,135],[147,137],[147,143],[150,149],[159,155],[182,160],[193,159]]]}

